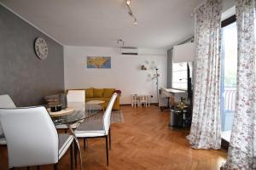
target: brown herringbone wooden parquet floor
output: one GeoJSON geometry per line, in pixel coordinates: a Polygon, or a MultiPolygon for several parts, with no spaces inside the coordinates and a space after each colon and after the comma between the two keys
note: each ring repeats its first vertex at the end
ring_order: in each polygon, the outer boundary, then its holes
{"type": "MultiPolygon", "coordinates": [[[[89,148],[80,146],[85,170],[217,170],[224,163],[225,150],[194,150],[185,137],[187,129],[169,129],[169,112],[158,107],[121,107],[125,122],[112,124],[112,150],[106,163],[105,140],[89,139],[89,148]]],[[[0,147],[0,169],[8,169],[7,150],[0,147]]],[[[68,170],[69,152],[62,157],[59,169],[68,170]]],[[[19,168],[26,169],[26,168],[19,168]]],[[[31,169],[36,169],[32,167],[31,169]]],[[[43,166],[41,169],[53,169],[43,166]]]]}

